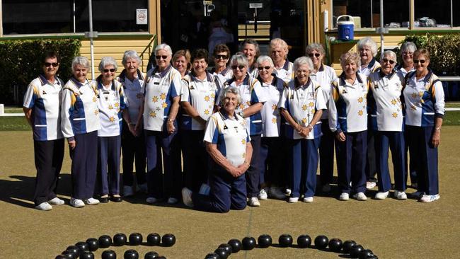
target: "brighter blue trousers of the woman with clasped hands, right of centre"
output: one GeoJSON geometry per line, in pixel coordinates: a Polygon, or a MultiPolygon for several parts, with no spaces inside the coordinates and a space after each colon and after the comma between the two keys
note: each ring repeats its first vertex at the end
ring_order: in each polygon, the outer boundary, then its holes
{"type": "Polygon", "coordinates": [[[320,138],[289,139],[290,161],[292,163],[291,197],[313,197],[316,191],[316,169],[320,138]]]}

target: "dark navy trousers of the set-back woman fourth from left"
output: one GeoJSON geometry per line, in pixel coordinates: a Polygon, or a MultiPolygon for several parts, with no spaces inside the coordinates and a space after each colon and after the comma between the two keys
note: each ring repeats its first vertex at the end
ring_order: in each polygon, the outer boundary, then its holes
{"type": "Polygon", "coordinates": [[[122,128],[122,154],[123,154],[123,185],[132,186],[133,178],[133,163],[136,168],[137,184],[142,185],[146,182],[146,154],[145,154],[145,138],[144,134],[134,137],[125,121],[122,128]]]}

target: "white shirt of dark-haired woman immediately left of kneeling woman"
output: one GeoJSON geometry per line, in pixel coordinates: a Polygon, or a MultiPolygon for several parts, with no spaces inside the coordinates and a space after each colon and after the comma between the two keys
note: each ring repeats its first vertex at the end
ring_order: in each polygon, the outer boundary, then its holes
{"type": "MultiPolygon", "coordinates": [[[[192,105],[203,120],[208,120],[212,115],[217,96],[217,86],[214,83],[212,74],[206,72],[204,80],[197,79],[191,73],[182,79],[182,103],[188,102],[192,105]]],[[[197,122],[195,118],[183,113],[180,121],[180,129],[203,130],[205,125],[197,122]]]]}

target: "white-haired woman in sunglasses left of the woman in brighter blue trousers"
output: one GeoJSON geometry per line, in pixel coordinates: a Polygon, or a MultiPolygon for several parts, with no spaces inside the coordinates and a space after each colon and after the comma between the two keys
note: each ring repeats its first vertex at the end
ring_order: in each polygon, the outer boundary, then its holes
{"type": "Polygon", "coordinates": [[[281,187],[285,185],[285,173],[282,168],[282,139],[280,138],[280,110],[277,109],[281,93],[286,83],[275,73],[275,66],[268,56],[257,59],[258,81],[267,101],[260,111],[262,115],[262,136],[260,139],[260,192],[258,198],[267,200],[268,196],[285,199],[281,187]]]}

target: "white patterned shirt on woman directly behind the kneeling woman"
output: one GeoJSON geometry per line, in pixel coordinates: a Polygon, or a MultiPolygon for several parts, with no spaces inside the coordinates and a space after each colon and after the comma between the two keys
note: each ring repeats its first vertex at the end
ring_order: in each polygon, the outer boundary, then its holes
{"type": "MultiPolygon", "coordinates": [[[[241,94],[241,103],[236,108],[235,112],[239,113],[242,110],[248,108],[249,106],[255,103],[265,103],[267,97],[263,94],[262,86],[260,82],[250,76],[249,74],[243,80],[243,83],[239,86],[236,86],[234,79],[230,79],[224,83],[224,88],[229,86],[235,86],[239,89],[241,94]]],[[[220,98],[219,98],[220,100],[220,98]]],[[[219,103],[218,103],[219,105],[219,103]]],[[[262,133],[262,115],[255,113],[249,117],[246,117],[246,125],[249,128],[249,134],[258,135],[262,133]]]]}

